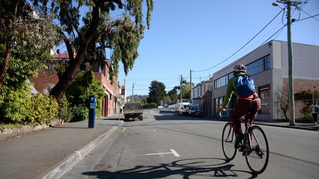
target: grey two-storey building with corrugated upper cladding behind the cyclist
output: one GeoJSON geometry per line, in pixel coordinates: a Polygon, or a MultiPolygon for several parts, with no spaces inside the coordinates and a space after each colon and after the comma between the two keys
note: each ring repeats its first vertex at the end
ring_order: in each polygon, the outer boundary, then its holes
{"type": "MultiPolygon", "coordinates": [[[[319,88],[319,46],[292,43],[294,93],[319,88]]],[[[271,40],[241,57],[235,62],[216,71],[213,90],[213,115],[217,116],[217,108],[221,106],[226,95],[228,80],[233,77],[233,67],[243,64],[247,73],[255,81],[257,93],[261,97],[262,109],[257,118],[272,120],[281,118],[282,111],[278,108],[278,100],[274,96],[288,85],[288,49],[287,42],[271,40]]],[[[234,108],[237,97],[233,95],[229,108],[234,108]]],[[[295,117],[302,117],[300,102],[295,103],[295,117]]],[[[227,112],[226,112],[227,113],[227,112]]],[[[289,112],[288,112],[289,114],[289,112]]],[[[228,113],[228,116],[231,116],[228,113]]]]}

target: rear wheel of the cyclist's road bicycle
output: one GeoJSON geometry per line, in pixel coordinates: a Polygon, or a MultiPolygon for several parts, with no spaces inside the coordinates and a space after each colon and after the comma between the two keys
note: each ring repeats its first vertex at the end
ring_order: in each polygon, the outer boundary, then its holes
{"type": "Polygon", "coordinates": [[[268,164],[269,148],[262,128],[259,126],[251,127],[251,131],[245,135],[244,144],[244,154],[249,169],[256,174],[263,173],[268,164]]]}

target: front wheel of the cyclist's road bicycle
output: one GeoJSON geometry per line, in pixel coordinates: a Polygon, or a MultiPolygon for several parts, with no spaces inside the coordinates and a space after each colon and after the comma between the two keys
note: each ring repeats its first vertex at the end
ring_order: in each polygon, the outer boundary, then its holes
{"type": "Polygon", "coordinates": [[[223,148],[224,156],[227,160],[232,160],[236,156],[237,150],[235,149],[236,133],[235,127],[230,125],[230,122],[227,122],[224,126],[221,144],[223,148]]]}

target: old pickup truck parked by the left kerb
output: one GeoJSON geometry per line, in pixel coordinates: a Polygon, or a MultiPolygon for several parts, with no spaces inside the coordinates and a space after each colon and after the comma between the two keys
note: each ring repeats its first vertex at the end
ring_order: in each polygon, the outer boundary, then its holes
{"type": "Polygon", "coordinates": [[[123,113],[125,120],[130,118],[143,120],[143,106],[140,102],[125,103],[123,113]]]}

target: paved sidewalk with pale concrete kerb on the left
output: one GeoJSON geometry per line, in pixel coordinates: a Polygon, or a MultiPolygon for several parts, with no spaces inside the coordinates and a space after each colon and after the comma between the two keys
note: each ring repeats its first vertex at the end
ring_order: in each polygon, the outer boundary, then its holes
{"type": "MultiPolygon", "coordinates": [[[[123,120],[123,118],[122,118],[123,120]]],[[[118,116],[68,123],[0,141],[0,179],[58,178],[123,124],[118,116]]]]}

